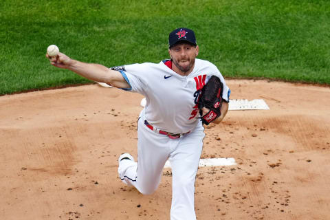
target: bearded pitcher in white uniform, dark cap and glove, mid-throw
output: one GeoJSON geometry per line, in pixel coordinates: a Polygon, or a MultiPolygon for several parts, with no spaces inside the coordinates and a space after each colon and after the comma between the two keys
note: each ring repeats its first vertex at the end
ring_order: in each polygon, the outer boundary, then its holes
{"type": "Polygon", "coordinates": [[[177,28],[168,37],[170,58],[118,67],[75,61],[59,53],[55,67],[146,97],[137,121],[137,161],[123,153],[118,173],[142,194],[159,186],[168,159],[173,173],[171,220],[195,220],[195,178],[205,137],[203,124],[219,123],[228,111],[230,89],[215,65],[197,59],[195,33],[177,28]]]}

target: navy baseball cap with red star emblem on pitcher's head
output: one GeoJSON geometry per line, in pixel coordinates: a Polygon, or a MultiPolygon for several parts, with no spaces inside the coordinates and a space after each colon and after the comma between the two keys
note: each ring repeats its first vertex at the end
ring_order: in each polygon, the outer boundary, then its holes
{"type": "Polygon", "coordinates": [[[188,28],[177,28],[173,30],[173,32],[170,32],[170,35],[168,36],[169,48],[175,45],[176,43],[179,43],[180,41],[187,41],[196,46],[197,41],[196,41],[195,32],[193,32],[188,28]]]}

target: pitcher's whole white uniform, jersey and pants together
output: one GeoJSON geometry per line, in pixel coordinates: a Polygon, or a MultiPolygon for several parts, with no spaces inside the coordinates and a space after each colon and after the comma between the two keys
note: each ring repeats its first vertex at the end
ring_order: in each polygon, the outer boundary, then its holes
{"type": "MultiPolygon", "coordinates": [[[[195,177],[203,148],[203,126],[199,120],[197,100],[201,88],[212,75],[223,83],[223,100],[229,101],[230,89],[217,67],[196,59],[188,76],[172,70],[170,60],[113,67],[119,70],[130,90],[146,97],[137,129],[137,162],[119,160],[118,174],[125,184],[133,185],[142,194],[151,194],[159,186],[162,169],[168,159],[173,173],[171,220],[195,220],[195,177]],[[152,131],[153,128],[170,133],[186,133],[171,139],[152,131]],[[189,133],[188,133],[189,132],[189,133]]],[[[133,157],[132,157],[133,158],[133,157]]]]}

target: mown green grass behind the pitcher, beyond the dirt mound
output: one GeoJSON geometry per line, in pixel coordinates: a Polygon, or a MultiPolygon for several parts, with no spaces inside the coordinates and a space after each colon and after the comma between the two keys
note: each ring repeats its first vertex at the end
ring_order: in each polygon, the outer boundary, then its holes
{"type": "Polygon", "coordinates": [[[50,44],[107,67],[158,63],[181,26],[225,77],[330,85],[330,1],[2,0],[0,21],[0,95],[91,83],[52,67],[50,44]]]}

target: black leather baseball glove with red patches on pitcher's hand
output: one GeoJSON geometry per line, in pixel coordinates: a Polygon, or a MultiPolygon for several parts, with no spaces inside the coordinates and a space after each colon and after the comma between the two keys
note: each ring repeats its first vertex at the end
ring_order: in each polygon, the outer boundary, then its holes
{"type": "Polygon", "coordinates": [[[203,124],[210,124],[221,115],[223,84],[217,76],[211,76],[208,83],[201,89],[198,109],[203,124]],[[208,113],[203,115],[203,108],[209,109],[208,113]]]}

